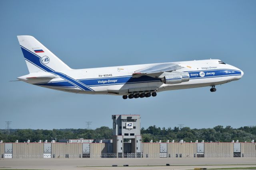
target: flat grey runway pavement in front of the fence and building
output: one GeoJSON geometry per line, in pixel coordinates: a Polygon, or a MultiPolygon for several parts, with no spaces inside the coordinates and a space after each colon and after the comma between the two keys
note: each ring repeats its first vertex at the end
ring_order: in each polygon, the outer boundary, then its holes
{"type": "Polygon", "coordinates": [[[47,170],[188,170],[194,168],[256,167],[256,158],[79,158],[1,159],[0,169],[47,170]],[[124,167],[124,165],[129,165],[124,167]],[[170,166],[166,166],[170,164],[170,166]],[[112,167],[117,165],[118,167],[112,167]]]}

